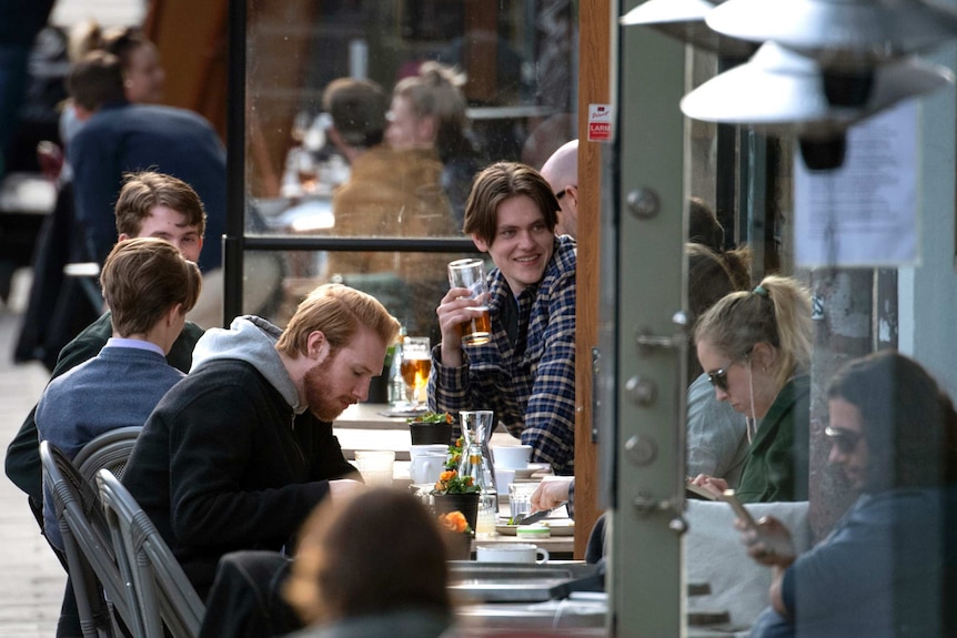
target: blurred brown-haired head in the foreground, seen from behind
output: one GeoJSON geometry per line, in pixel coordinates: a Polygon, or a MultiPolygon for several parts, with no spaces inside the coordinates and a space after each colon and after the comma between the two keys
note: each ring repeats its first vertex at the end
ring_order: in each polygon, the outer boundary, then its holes
{"type": "Polygon", "coordinates": [[[285,598],[308,622],[417,608],[450,616],[443,533],[390,488],[326,500],[303,525],[285,598]]]}

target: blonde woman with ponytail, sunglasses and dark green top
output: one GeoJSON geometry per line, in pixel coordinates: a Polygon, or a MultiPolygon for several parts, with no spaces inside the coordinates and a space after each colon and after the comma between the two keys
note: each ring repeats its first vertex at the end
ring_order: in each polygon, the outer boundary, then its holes
{"type": "MultiPolygon", "coordinates": [[[[748,454],[737,487],[744,503],[807,499],[812,337],[807,288],[777,275],[723,297],[695,326],[715,396],[746,419],[748,454]]],[[[707,475],[694,483],[718,495],[728,487],[707,475]]]]}

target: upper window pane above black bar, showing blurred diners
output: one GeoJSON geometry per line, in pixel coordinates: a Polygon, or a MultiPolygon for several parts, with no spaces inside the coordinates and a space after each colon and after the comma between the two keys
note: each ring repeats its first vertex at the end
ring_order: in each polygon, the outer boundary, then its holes
{"type": "Polygon", "coordinates": [[[245,171],[270,235],[461,235],[472,176],[575,136],[568,0],[250,0],[245,171]]]}

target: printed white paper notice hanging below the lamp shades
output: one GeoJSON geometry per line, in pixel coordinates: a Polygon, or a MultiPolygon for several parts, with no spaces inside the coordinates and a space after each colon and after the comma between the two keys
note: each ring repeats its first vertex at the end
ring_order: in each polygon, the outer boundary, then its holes
{"type": "Polygon", "coordinates": [[[794,159],[799,266],[908,265],[918,260],[917,104],[847,131],[844,165],[810,172],[794,159]]]}

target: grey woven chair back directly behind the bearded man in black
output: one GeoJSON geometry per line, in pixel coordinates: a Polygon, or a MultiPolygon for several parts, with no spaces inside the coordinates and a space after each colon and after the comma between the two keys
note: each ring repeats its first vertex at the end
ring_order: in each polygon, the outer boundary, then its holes
{"type": "Polygon", "coordinates": [[[115,554],[128,561],[147,638],[195,638],[205,606],[150,517],[109,469],[97,473],[115,554]],[[168,634],[164,634],[164,629],[168,634]]]}

